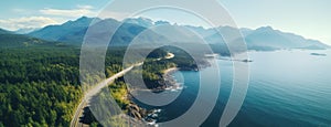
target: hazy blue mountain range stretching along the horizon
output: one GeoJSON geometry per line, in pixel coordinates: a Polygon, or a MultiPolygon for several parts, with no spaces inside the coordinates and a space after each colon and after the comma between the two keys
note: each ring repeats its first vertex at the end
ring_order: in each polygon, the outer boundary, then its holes
{"type": "MultiPolygon", "coordinates": [[[[216,33],[216,29],[222,33],[229,33],[235,31],[235,28],[231,27],[218,27],[214,29],[204,29],[201,27],[192,25],[177,25],[170,24],[167,21],[152,21],[146,18],[137,19],[126,19],[124,21],[117,21],[115,19],[98,19],[98,18],[87,18],[82,17],[75,21],[67,21],[58,25],[47,25],[40,30],[28,33],[28,36],[33,36],[41,40],[47,41],[58,41],[66,44],[79,45],[83,42],[84,35],[88,29],[94,29],[97,31],[96,34],[105,35],[107,32],[115,32],[111,44],[113,45],[127,45],[129,44],[135,36],[137,36],[142,31],[147,30],[150,27],[163,25],[164,33],[171,34],[172,38],[181,38],[181,40],[186,40],[186,42],[192,42],[196,36],[192,36],[184,32],[183,29],[190,29],[199,33],[209,44],[221,44],[224,45],[225,42],[222,39],[222,35],[216,33]],[[115,29],[118,28],[116,31],[115,29]]],[[[4,30],[0,30],[0,33],[3,33],[4,30]]],[[[280,50],[280,49],[309,49],[309,50],[323,50],[329,49],[330,46],[323,44],[317,40],[305,39],[303,36],[296,35],[293,33],[286,33],[279,30],[274,30],[270,27],[261,27],[256,30],[250,29],[241,29],[245,41],[247,42],[248,50],[280,50]]],[[[4,31],[6,33],[6,31],[4,31]]],[[[171,41],[172,39],[162,36],[152,31],[145,32],[145,36],[140,36],[140,40],[146,42],[161,41],[167,40],[171,41]]],[[[175,39],[174,39],[175,40],[175,39]]],[[[96,43],[99,41],[95,39],[96,43]]],[[[234,41],[235,42],[235,41],[234,41]]],[[[185,43],[185,42],[182,42],[185,43]]],[[[232,42],[229,42],[232,43],[232,42]]]]}

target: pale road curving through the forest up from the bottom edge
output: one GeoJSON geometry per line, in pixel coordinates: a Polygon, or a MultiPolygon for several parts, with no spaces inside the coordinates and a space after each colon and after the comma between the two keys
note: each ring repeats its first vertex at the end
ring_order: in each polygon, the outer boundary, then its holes
{"type": "Polygon", "coordinates": [[[79,121],[79,118],[83,117],[83,112],[84,108],[86,106],[88,106],[89,104],[89,99],[92,96],[96,95],[97,93],[99,93],[104,87],[106,87],[108,84],[113,83],[116,78],[124,76],[126,73],[128,73],[129,71],[131,71],[134,67],[136,66],[140,66],[143,63],[138,63],[135,64],[130,67],[127,67],[126,70],[122,70],[119,73],[116,73],[115,75],[113,75],[109,78],[106,78],[105,81],[103,81],[102,83],[97,84],[95,87],[93,87],[92,89],[89,89],[88,92],[86,92],[85,97],[83,97],[83,99],[81,100],[79,105],[76,108],[75,115],[71,121],[71,127],[84,127],[87,125],[84,125],[82,121],[79,121]]]}

